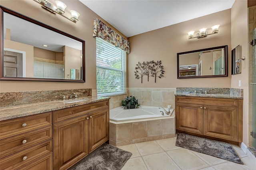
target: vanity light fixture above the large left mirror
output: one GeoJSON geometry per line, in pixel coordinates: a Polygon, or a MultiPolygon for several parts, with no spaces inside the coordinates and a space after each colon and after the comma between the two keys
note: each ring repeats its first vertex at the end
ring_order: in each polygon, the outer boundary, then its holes
{"type": "Polygon", "coordinates": [[[56,0],[56,6],[51,4],[50,2],[48,2],[47,0],[34,0],[35,2],[37,2],[38,4],[42,5],[42,8],[44,8],[45,10],[48,10],[50,12],[52,12],[53,14],[59,14],[61,16],[63,16],[64,18],[76,23],[78,21],[78,17],[80,16],[80,14],[78,12],[76,12],[75,10],[70,10],[71,13],[71,18],[68,18],[67,16],[65,16],[65,9],[66,9],[66,4],[64,4],[63,2],[56,0]]]}

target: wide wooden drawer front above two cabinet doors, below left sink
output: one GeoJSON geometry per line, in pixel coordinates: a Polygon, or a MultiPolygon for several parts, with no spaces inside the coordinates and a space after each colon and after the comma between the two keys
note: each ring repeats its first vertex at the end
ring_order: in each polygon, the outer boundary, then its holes
{"type": "Polygon", "coordinates": [[[56,110],[53,112],[53,123],[58,123],[60,121],[68,120],[74,117],[78,117],[80,115],[85,115],[89,112],[104,108],[108,108],[108,100],[56,110]]]}

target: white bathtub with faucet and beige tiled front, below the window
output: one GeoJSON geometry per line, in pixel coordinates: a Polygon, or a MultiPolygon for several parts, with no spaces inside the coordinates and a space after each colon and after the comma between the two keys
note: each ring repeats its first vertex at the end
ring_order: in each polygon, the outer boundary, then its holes
{"type": "Polygon", "coordinates": [[[170,115],[160,111],[163,109],[151,106],[110,109],[109,144],[118,147],[175,137],[174,109],[170,115]]]}

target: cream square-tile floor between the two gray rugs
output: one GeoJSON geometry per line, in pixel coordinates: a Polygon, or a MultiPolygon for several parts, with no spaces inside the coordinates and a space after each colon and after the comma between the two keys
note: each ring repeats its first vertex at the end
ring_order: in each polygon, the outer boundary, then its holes
{"type": "Polygon", "coordinates": [[[256,162],[233,145],[244,165],[175,146],[176,137],[120,146],[132,152],[122,170],[256,170],[256,162]]]}

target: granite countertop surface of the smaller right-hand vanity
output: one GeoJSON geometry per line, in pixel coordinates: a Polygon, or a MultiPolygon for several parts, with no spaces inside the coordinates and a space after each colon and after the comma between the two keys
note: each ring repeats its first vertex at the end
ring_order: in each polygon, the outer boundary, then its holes
{"type": "Polygon", "coordinates": [[[176,93],[175,96],[189,96],[200,98],[229,98],[229,99],[243,99],[240,96],[232,96],[230,94],[194,94],[194,93],[176,93]]]}

